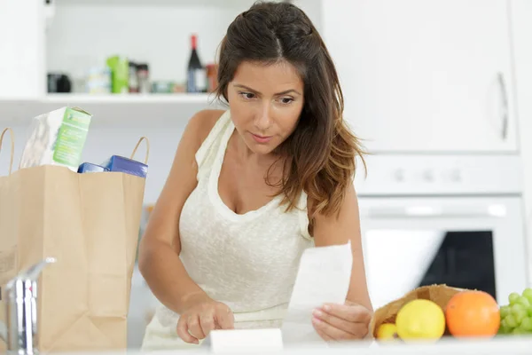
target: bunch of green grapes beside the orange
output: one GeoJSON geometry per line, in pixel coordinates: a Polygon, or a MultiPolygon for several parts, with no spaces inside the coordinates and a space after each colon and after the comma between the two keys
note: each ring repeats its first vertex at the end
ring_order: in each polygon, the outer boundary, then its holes
{"type": "Polygon", "coordinates": [[[521,295],[512,292],[508,302],[499,309],[499,334],[532,334],[532,288],[526,288],[521,295]]]}

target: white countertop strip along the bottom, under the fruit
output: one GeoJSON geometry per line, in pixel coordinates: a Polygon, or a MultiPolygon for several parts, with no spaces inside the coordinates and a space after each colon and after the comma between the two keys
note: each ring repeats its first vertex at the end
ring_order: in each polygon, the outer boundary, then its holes
{"type": "MultiPolygon", "coordinates": [[[[532,337],[508,336],[490,340],[457,340],[444,339],[438,343],[398,343],[398,344],[381,344],[381,343],[338,343],[335,345],[301,345],[298,347],[286,347],[283,351],[260,351],[243,350],[246,353],[255,354],[283,354],[283,355],[303,355],[303,354],[335,354],[335,355],[395,355],[395,354],[423,354],[423,355],[520,355],[532,353],[532,337]],[[325,348],[327,348],[325,350],[325,348]]],[[[117,354],[148,354],[157,355],[176,355],[176,351],[98,351],[98,352],[62,352],[62,355],[117,355],[117,354]]],[[[191,351],[178,351],[179,354],[212,354],[210,349],[198,348],[191,351]]],[[[219,353],[237,353],[219,352],[219,353]]],[[[59,354],[59,353],[58,353],[59,354]]]]}

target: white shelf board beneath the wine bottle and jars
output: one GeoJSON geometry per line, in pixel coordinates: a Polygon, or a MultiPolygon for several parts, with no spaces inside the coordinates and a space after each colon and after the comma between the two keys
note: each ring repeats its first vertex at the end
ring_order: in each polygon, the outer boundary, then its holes
{"type": "Polygon", "coordinates": [[[223,108],[215,94],[50,94],[43,99],[0,99],[0,127],[25,125],[31,118],[62,106],[93,115],[91,127],[165,127],[185,124],[205,108],[223,108]]]}

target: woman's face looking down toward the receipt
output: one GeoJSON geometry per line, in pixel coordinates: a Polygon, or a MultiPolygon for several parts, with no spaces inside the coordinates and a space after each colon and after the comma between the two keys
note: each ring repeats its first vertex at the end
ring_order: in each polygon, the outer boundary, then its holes
{"type": "Polygon", "coordinates": [[[292,134],[304,104],[303,87],[286,61],[239,65],[227,95],[231,119],[252,152],[270,154],[292,134]]]}

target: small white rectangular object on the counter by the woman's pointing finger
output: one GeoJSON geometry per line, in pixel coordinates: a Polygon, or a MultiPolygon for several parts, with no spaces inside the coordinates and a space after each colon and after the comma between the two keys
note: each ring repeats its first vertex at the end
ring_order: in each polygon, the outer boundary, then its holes
{"type": "Polygon", "coordinates": [[[212,352],[281,351],[283,338],[278,328],[213,330],[212,352]]]}

